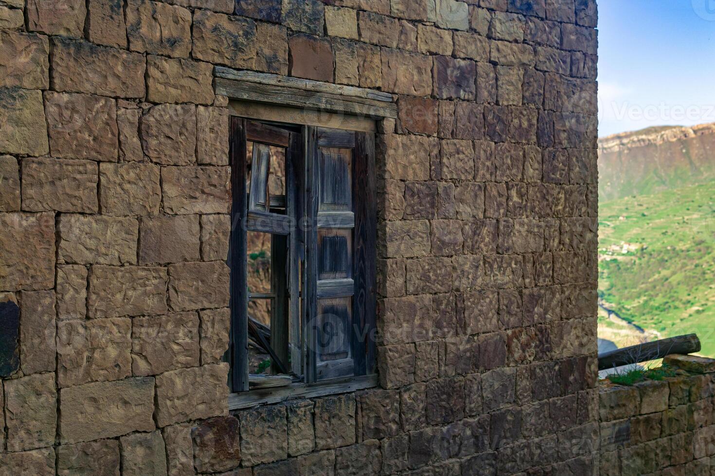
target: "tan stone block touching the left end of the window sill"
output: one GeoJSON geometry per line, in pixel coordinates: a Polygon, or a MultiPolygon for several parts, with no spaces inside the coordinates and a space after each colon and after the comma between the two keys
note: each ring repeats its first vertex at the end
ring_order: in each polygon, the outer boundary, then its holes
{"type": "Polygon", "coordinates": [[[198,420],[228,411],[227,363],[171,370],[157,376],[157,425],[198,420]]]}

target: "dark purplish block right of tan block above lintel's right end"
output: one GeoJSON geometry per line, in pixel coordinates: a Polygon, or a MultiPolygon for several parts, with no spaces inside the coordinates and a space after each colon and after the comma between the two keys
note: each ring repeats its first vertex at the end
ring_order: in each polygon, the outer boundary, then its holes
{"type": "Polygon", "coordinates": [[[476,97],[476,77],[474,61],[435,56],[433,95],[440,99],[473,100],[476,97]]]}

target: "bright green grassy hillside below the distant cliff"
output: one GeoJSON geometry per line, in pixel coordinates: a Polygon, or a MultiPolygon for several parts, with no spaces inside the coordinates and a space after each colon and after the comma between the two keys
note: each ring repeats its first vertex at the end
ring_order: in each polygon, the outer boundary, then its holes
{"type": "Polygon", "coordinates": [[[604,202],[599,213],[601,255],[621,241],[647,245],[599,261],[599,295],[663,337],[697,333],[715,357],[715,181],[604,202]]]}

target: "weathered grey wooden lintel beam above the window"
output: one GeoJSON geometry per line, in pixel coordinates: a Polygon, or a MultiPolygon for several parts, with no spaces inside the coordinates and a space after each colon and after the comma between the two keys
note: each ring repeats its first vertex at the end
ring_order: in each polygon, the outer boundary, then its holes
{"type": "Polygon", "coordinates": [[[332,113],[348,113],[374,119],[397,118],[397,106],[393,103],[371,99],[350,98],[328,93],[314,93],[300,89],[249,83],[232,79],[215,79],[214,89],[221,96],[258,103],[280,104],[295,108],[314,109],[332,113]]]}

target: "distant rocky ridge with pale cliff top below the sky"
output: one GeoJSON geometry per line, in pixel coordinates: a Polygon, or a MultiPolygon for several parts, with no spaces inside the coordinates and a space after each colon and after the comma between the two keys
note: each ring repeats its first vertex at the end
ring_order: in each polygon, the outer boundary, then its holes
{"type": "Polygon", "coordinates": [[[603,201],[709,181],[715,178],[715,123],[603,137],[598,178],[603,201]]]}

